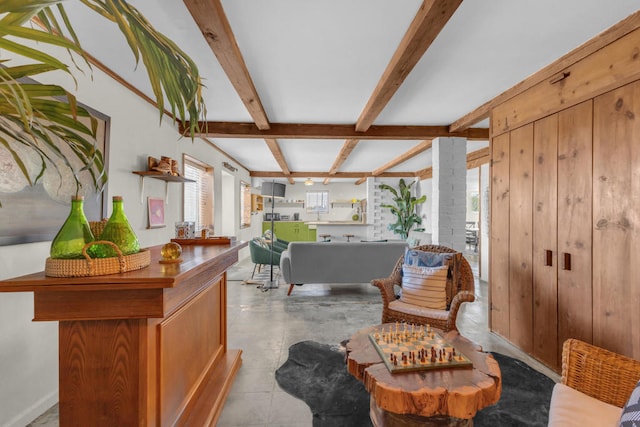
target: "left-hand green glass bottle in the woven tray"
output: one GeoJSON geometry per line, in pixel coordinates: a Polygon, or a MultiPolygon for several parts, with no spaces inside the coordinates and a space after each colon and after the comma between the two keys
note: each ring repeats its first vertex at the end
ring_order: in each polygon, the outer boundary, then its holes
{"type": "Polygon", "coordinates": [[[62,228],[51,242],[49,254],[56,259],[82,258],[82,248],[89,242],[93,242],[93,233],[89,228],[87,217],[84,216],[84,198],[73,196],[71,198],[71,212],[62,228]]]}

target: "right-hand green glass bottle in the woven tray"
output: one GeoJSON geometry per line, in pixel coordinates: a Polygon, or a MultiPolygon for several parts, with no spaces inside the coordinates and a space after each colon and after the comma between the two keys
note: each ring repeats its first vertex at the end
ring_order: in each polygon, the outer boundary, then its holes
{"type": "MultiPolygon", "coordinates": [[[[98,240],[108,240],[120,248],[123,255],[130,255],[140,252],[140,242],[136,233],[133,232],[129,220],[124,213],[122,196],[113,196],[113,211],[111,217],[104,226],[102,234],[98,240]]],[[[90,254],[94,258],[110,258],[118,256],[116,251],[109,245],[94,245],[90,254]]]]}

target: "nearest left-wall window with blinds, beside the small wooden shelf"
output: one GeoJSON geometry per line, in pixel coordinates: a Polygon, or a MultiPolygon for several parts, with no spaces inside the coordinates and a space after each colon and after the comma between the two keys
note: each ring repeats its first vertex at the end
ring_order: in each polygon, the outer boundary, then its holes
{"type": "Polygon", "coordinates": [[[196,231],[213,228],[213,168],[185,155],[184,176],[195,181],[184,184],[184,220],[193,221],[196,231]]]}

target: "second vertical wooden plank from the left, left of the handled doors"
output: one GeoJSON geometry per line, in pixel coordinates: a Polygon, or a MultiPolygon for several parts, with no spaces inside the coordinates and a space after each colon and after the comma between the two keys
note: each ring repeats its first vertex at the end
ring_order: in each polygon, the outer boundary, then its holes
{"type": "Polygon", "coordinates": [[[533,124],[511,132],[509,339],[533,351],[533,124]]]}

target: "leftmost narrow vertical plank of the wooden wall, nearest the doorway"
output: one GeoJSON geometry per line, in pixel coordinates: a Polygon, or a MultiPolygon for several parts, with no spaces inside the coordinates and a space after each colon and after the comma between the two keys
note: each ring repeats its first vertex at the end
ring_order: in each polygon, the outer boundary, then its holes
{"type": "Polygon", "coordinates": [[[489,327],[509,338],[509,134],[491,141],[489,327]]]}

